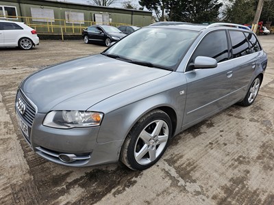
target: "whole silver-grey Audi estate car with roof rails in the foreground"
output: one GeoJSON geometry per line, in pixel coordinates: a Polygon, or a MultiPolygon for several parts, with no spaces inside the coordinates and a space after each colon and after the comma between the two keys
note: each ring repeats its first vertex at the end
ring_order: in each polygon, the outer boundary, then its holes
{"type": "Polygon", "coordinates": [[[147,169],[174,135],[235,103],[251,105],[266,64],[245,26],[143,27],[103,53],[27,77],[16,116],[29,146],[51,162],[147,169]]]}

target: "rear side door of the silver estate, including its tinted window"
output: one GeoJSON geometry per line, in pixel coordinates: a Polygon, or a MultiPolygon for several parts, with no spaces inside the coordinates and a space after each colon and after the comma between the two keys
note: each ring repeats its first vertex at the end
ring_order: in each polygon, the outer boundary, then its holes
{"type": "MultiPolygon", "coordinates": [[[[230,30],[229,36],[232,42],[232,62],[234,64],[231,100],[236,100],[245,96],[248,88],[247,86],[249,85],[253,71],[257,66],[256,61],[258,53],[249,49],[249,41],[247,38],[253,41],[256,41],[257,39],[255,36],[252,36],[252,33],[244,33],[235,30],[230,30]]],[[[260,45],[257,49],[260,49],[260,45]]]]}

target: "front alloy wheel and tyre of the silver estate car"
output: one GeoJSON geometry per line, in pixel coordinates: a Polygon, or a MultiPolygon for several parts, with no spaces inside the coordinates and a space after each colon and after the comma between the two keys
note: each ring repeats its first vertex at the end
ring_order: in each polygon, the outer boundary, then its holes
{"type": "Polygon", "coordinates": [[[160,109],[147,113],[136,122],[125,138],[120,160],[133,170],[151,167],[164,154],[171,133],[169,115],[160,109]]]}

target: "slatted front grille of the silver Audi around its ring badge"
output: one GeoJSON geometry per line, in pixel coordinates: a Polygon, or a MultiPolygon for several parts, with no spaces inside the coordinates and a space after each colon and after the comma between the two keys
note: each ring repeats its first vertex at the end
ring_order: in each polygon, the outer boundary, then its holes
{"type": "Polygon", "coordinates": [[[20,113],[21,117],[25,120],[25,122],[27,122],[27,124],[32,127],[34,117],[36,114],[36,109],[34,105],[32,105],[33,103],[29,102],[29,100],[21,90],[18,90],[16,102],[18,102],[18,98],[20,98],[22,102],[25,104],[25,113],[21,114],[20,111],[18,113],[20,113]]]}

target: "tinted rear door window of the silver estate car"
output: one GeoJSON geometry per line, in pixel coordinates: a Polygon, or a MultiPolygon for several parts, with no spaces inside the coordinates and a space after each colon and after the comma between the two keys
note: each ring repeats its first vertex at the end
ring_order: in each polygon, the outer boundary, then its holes
{"type": "Polygon", "coordinates": [[[249,54],[249,44],[242,31],[229,31],[232,40],[233,57],[240,57],[249,54]]]}

